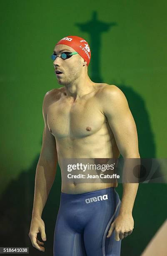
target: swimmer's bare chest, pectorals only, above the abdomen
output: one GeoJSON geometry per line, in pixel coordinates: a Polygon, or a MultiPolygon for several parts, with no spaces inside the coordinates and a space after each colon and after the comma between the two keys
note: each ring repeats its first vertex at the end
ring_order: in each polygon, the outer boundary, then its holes
{"type": "Polygon", "coordinates": [[[61,98],[47,108],[47,124],[55,138],[83,138],[96,133],[105,123],[96,98],[61,98]]]}

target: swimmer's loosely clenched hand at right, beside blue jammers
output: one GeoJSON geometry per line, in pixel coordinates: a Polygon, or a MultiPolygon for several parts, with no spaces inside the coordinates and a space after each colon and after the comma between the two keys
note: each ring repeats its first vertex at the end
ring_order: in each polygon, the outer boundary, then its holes
{"type": "Polygon", "coordinates": [[[120,241],[123,238],[129,236],[134,228],[134,220],[132,214],[118,215],[117,218],[111,224],[110,230],[108,231],[107,238],[112,235],[115,230],[115,240],[120,241]]]}

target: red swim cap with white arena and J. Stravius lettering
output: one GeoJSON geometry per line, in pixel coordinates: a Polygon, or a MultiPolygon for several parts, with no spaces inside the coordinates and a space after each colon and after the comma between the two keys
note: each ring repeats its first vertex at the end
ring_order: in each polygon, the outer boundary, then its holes
{"type": "MultiPolygon", "coordinates": [[[[79,36],[66,36],[62,38],[57,44],[65,44],[77,51],[80,56],[87,61],[87,67],[90,63],[91,52],[87,41],[79,36]]],[[[57,45],[56,44],[56,45],[57,45]]]]}

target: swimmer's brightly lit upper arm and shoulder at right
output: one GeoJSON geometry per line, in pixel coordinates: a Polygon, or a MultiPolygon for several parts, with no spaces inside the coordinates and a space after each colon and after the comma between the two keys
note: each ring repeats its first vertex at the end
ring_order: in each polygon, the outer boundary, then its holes
{"type": "Polygon", "coordinates": [[[139,156],[137,129],[124,93],[115,85],[108,85],[103,93],[103,113],[120,154],[125,158],[136,158],[139,156]]]}

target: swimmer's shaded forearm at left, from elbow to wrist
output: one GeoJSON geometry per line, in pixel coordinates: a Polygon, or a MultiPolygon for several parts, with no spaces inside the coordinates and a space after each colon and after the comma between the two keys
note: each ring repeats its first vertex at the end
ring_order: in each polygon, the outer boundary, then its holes
{"type": "Polygon", "coordinates": [[[41,217],[50,189],[55,179],[57,162],[39,160],[35,175],[35,192],[32,216],[41,217]]]}

